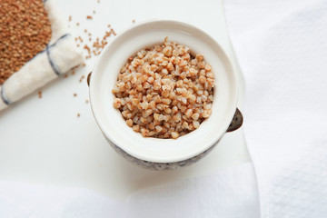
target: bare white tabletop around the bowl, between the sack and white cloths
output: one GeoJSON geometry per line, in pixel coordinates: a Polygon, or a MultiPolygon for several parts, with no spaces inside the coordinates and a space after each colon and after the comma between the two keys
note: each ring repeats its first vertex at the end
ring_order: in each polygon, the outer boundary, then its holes
{"type": "MultiPolygon", "coordinates": [[[[133,25],[133,19],[136,22],[150,18],[176,19],[202,28],[233,58],[220,1],[203,1],[202,4],[188,1],[187,10],[182,10],[185,3],[173,0],[164,3],[150,0],[102,1],[100,4],[77,0],[57,2],[67,20],[72,15],[70,25],[76,35],[84,35],[86,28],[93,38],[95,35],[102,37],[108,24],[119,33],[133,25]],[[158,9],[165,4],[181,9],[158,9]],[[86,20],[86,15],[92,15],[93,10],[96,11],[94,19],[86,20]],[[80,26],[74,25],[76,22],[80,26]]],[[[75,75],[47,85],[42,99],[32,94],[0,113],[0,180],[81,187],[123,199],[144,187],[208,174],[249,161],[241,129],[226,134],[200,163],[178,171],[149,172],[127,163],[105,142],[90,105],[85,104],[88,87],[85,81],[79,83],[79,79],[93,64],[94,59],[89,60],[75,75]],[[80,118],[77,113],[81,114],[80,118]]]]}

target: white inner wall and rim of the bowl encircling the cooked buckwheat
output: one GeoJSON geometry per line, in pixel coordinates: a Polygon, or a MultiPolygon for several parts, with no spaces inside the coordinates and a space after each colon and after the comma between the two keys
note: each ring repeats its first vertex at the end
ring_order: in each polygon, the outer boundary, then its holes
{"type": "Polygon", "coordinates": [[[175,21],[146,22],[115,36],[95,64],[90,83],[94,117],[104,135],[126,153],[156,163],[183,161],[215,144],[233,119],[237,94],[236,76],[221,46],[192,25],[175,21]],[[213,114],[197,130],[177,140],[144,138],[134,133],[113,106],[112,89],[127,58],[146,46],[162,43],[166,36],[188,46],[193,53],[203,54],[215,75],[213,114]]]}

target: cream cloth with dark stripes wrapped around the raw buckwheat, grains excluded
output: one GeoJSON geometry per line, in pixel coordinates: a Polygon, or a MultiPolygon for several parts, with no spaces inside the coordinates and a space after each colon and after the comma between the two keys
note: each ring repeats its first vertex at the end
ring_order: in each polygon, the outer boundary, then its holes
{"type": "Polygon", "coordinates": [[[84,60],[69,34],[55,1],[44,1],[52,36],[44,51],[36,54],[19,71],[0,85],[0,110],[41,88],[84,60]]]}

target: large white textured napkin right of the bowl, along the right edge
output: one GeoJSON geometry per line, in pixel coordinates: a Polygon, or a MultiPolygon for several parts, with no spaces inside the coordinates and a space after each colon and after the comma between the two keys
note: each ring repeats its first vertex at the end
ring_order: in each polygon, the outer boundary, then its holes
{"type": "Polygon", "coordinates": [[[327,217],[327,2],[225,0],[262,217],[327,217]]]}

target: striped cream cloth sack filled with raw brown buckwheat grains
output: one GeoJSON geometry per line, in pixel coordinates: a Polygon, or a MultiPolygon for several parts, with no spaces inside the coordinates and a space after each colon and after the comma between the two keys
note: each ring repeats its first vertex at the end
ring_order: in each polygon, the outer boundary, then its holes
{"type": "Polygon", "coordinates": [[[0,110],[83,63],[54,4],[0,0],[0,110]]]}

